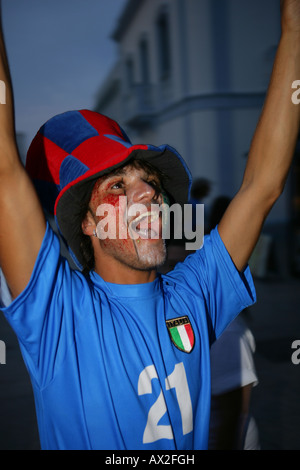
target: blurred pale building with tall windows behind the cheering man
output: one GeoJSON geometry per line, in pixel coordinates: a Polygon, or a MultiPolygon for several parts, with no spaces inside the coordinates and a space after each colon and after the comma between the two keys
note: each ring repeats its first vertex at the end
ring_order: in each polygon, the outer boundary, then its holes
{"type": "MultiPolygon", "coordinates": [[[[212,182],[210,200],[232,197],[279,37],[278,0],[128,0],[113,32],[119,60],[96,109],[116,119],[133,143],[175,147],[194,177],[212,182]]],[[[291,259],[291,191],[300,193],[294,174],[296,166],[265,229],[280,245],[281,272],[291,259]]]]}

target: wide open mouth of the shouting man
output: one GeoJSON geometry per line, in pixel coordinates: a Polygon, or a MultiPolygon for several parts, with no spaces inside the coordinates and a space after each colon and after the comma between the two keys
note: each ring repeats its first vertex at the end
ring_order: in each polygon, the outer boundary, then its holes
{"type": "Polygon", "coordinates": [[[158,239],[160,232],[159,212],[144,212],[129,223],[128,229],[134,239],[158,239]]]}

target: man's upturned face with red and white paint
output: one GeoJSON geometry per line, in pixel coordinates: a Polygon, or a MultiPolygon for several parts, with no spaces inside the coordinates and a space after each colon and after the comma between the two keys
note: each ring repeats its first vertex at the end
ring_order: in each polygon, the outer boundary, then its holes
{"type": "Polygon", "coordinates": [[[100,178],[89,208],[103,254],[138,270],[162,265],[166,249],[157,210],[162,203],[159,177],[139,166],[126,165],[100,178]]]}

